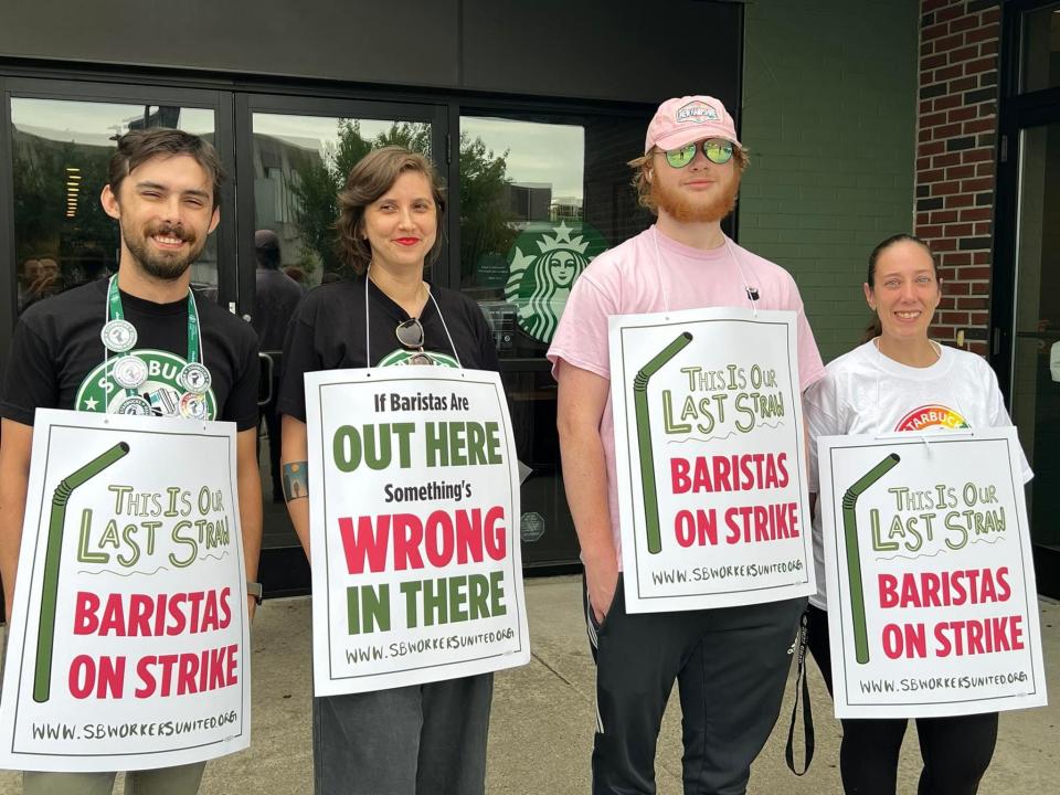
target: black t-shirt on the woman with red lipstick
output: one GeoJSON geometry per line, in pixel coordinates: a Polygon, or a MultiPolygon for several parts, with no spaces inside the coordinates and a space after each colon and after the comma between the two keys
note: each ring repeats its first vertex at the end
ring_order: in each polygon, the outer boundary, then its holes
{"type": "MultiPolygon", "coordinates": [[[[437,363],[468,370],[498,370],[494,332],[478,305],[467,296],[442,287],[431,287],[430,298],[420,315],[424,344],[437,363]],[[438,317],[438,310],[442,317],[438,317]],[[443,325],[442,318],[445,319],[443,325]],[[448,328],[453,343],[446,335],[448,328]],[[454,357],[453,346],[456,346],[454,357]]],[[[365,350],[364,277],[317,287],[298,307],[284,343],[284,377],[277,411],[306,421],[304,375],[320,370],[388,367],[403,364],[414,352],[398,341],[398,325],[409,314],[385,293],[368,282],[368,333],[371,351],[365,350]],[[368,356],[367,356],[368,354],[368,356]]]]}

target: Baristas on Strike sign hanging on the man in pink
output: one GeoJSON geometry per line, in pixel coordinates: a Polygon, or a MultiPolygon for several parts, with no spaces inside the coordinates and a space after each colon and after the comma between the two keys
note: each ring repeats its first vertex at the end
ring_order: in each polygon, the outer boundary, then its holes
{"type": "Polygon", "coordinates": [[[814,592],[795,314],[610,319],[630,613],[814,592]]]}

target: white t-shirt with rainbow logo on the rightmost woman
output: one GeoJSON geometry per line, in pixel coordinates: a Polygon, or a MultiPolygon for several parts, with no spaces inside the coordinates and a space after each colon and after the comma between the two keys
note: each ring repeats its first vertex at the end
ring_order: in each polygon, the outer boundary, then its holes
{"type": "MultiPolygon", "coordinates": [[[[931,367],[912,368],[880,353],[875,341],[855,348],[828,364],[826,375],[803,395],[809,430],[809,490],[819,491],[817,438],[895,431],[947,431],[1005,427],[997,377],[975,353],[941,347],[931,367]]],[[[1024,481],[1034,476],[1020,451],[1024,481]]],[[[820,507],[814,511],[814,563],[817,595],[810,604],[827,610],[825,548],[820,507]]]]}

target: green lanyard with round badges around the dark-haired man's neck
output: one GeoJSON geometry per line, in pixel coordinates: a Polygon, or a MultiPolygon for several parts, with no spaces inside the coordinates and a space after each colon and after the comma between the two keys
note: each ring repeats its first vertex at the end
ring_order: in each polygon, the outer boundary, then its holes
{"type": "MultiPolygon", "coordinates": [[[[155,406],[147,398],[137,392],[147,381],[149,368],[147,362],[132,352],[139,335],[136,327],[125,319],[125,308],[121,305],[121,292],[118,289],[118,277],[110,277],[107,285],[107,307],[104,316],[103,329],[99,332],[104,347],[104,373],[107,372],[110,354],[117,356],[110,377],[115,383],[125,390],[125,400],[118,405],[118,414],[134,414],[150,416],[155,406]]],[[[183,390],[176,411],[189,420],[205,420],[209,415],[205,394],[210,391],[212,378],[210,370],[203,363],[202,339],[199,330],[199,307],[195,305],[195,294],[188,289],[188,356],[187,364],[177,375],[177,383],[183,390]]],[[[173,413],[172,407],[165,413],[173,413]]],[[[107,412],[106,403],[103,411],[107,412]]]]}

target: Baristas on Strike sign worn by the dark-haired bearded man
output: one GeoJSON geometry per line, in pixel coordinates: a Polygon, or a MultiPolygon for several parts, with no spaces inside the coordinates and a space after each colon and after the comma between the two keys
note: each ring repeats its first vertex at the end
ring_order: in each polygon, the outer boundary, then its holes
{"type": "Polygon", "coordinates": [[[167,767],[250,745],[235,426],[38,410],[0,766],[167,767]]]}

